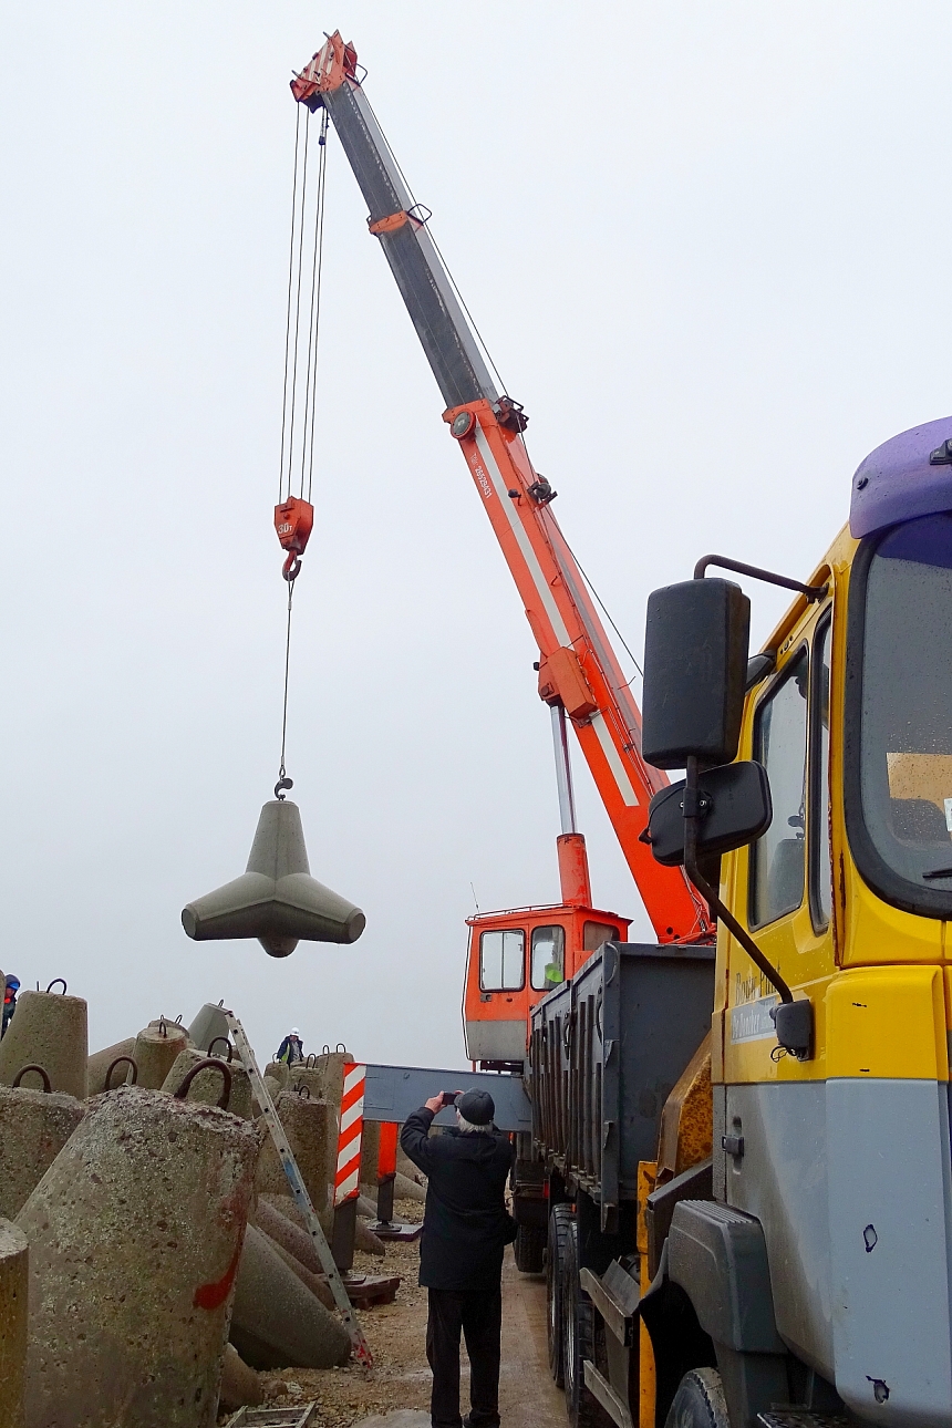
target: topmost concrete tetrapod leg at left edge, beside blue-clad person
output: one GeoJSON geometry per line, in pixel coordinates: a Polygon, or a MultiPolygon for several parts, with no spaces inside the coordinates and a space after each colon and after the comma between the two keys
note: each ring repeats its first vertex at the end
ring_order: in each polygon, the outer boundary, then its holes
{"type": "Polygon", "coordinates": [[[0,1041],[0,1085],[24,1065],[41,1065],[54,1091],[86,1100],[88,1061],[86,1002],[50,991],[21,991],[17,1012],[0,1041]]]}

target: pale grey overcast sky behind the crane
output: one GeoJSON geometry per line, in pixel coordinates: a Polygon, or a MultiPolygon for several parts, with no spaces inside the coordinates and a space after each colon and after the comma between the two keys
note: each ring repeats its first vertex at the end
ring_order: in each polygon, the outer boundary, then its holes
{"type": "Polygon", "coordinates": [[[634,648],[705,551],[808,575],[865,453],[952,408],[948,4],[7,6],[0,965],[93,1048],[224,998],[263,1057],[462,1065],[471,888],[558,895],[537,653],[331,134],[288,771],[367,931],[275,962],[178,922],[277,777],[288,79],[334,27],[634,648]]]}

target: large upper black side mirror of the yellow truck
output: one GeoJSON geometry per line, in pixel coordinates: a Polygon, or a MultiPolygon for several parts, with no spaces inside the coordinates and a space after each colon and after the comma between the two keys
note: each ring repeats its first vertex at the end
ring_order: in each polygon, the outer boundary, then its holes
{"type": "Polygon", "coordinates": [[[648,597],[641,753],[655,768],[729,764],[744,713],[751,601],[729,580],[648,597]]]}

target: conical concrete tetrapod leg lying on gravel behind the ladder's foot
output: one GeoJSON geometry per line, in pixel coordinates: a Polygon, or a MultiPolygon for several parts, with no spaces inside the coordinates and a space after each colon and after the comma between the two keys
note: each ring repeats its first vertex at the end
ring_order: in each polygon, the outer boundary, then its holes
{"type": "Polygon", "coordinates": [[[254,1225],[241,1251],[230,1338],[253,1368],[333,1368],[350,1357],[344,1325],[254,1225]]]}

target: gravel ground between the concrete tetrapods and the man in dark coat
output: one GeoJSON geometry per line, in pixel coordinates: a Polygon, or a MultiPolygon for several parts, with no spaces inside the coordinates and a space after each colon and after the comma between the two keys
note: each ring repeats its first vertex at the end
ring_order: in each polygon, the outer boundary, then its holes
{"type": "MultiPolygon", "coordinates": [[[[422,1205],[412,1200],[398,1200],[394,1217],[420,1224],[422,1205]]],[[[351,1424],[370,1414],[385,1414],[394,1408],[428,1408],[430,1368],[424,1344],[427,1291],[417,1284],[418,1269],[418,1244],[388,1244],[384,1259],[357,1252],[354,1274],[401,1275],[393,1304],[377,1305],[360,1314],[374,1355],[373,1372],[367,1374],[351,1362],[345,1368],[288,1368],[258,1374],[265,1404],[291,1408],[294,1404],[317,1399],[317,1422],[321,1428],[351,1428],[351,1424]]],[[[226,1414],[218,1422],[227,1424],[228,1418],[226,1414]]]]}

